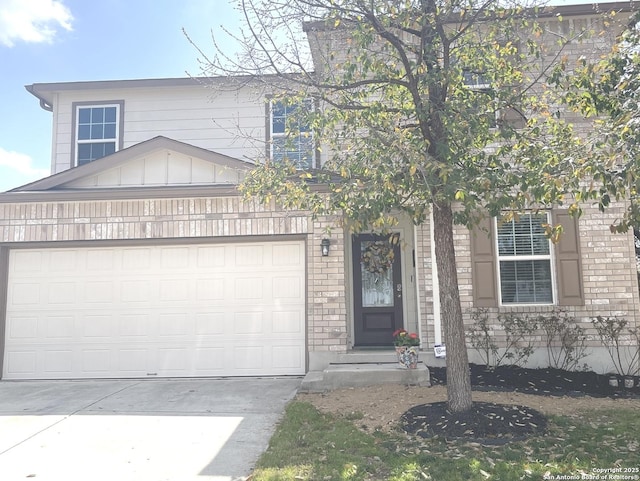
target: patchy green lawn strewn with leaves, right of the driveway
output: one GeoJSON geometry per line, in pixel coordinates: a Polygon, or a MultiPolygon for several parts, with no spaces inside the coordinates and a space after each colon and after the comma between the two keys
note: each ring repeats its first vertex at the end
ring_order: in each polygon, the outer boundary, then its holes
{"type": "Polygon", "coordinates": [[[293,401],[252,481],[640,480],[640,413],[633,410],[548,416],[544,436],[503,446],[414,438],[400,430],[368,434],[358,428],[359,417],[293,401]]]}

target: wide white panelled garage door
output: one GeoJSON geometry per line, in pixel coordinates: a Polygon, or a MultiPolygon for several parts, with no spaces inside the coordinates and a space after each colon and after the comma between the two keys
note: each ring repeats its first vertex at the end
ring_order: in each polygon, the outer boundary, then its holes
{"type": "Polygon", "coordinates": [[[305,372],[302,242],[13,250],[5,379],[305,372]]]}

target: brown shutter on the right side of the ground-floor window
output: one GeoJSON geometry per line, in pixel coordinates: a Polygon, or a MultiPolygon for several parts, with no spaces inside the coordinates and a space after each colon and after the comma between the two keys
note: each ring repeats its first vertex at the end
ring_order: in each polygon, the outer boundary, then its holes
{"type": "Polygon", "coordinates": [[[555,245],[556,272],[558,274],[558,305],[584,305],[582,257],[578,219],[566,210],[552,211],[553,223],[563,227],[560,241],[555,245]]]}

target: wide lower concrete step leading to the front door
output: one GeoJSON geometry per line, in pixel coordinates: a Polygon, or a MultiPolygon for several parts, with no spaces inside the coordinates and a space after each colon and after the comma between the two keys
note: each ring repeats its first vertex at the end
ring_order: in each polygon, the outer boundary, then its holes
{"type": "Polygon", "coordinates": [[[416,369],[405,369],[397,362],[331,364],[323,371],[309,371],[302,381],[300,392],[324,392],[344,387],[363,387],[378,384],[430,386],[429,369],[418,363],[416,369]]]}

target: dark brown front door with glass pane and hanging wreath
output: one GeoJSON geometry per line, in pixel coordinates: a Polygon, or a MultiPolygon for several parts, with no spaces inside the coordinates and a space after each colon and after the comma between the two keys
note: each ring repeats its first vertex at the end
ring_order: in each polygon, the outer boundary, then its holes
{"type": "Polygon", "coordinates": [[[400,246],[388,236],[353,236],[354,345],[392,346],[403,327],[400,246]]]}

